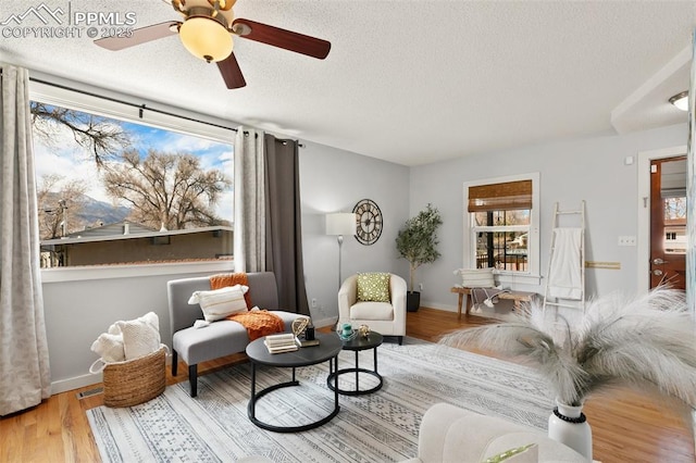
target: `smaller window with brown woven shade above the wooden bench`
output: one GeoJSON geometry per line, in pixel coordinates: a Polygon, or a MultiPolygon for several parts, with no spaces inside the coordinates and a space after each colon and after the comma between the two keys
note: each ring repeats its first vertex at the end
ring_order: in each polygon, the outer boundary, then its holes
{"type": "Polygon", "coordinates": [[[538,174],[464,184],[464,266],[538,279],[538,174]]]}

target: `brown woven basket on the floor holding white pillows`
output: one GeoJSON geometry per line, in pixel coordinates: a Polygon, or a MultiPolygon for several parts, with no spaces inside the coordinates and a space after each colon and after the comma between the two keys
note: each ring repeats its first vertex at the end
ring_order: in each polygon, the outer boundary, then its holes
{"type": "Polygon", "coordinates": [[[164,392],[165,349],[162,346],[148,355],[107,364],[103,370],[104,405],[137,405],[164,392]]]}

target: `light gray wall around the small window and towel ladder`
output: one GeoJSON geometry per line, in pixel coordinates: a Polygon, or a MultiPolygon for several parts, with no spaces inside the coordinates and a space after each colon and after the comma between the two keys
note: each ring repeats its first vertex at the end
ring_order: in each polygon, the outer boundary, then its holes
{"type": "MultiPolygon", "coordinates": [[[[501,134],[501,136],[505,136],[501,134]]],[[[635,292],[635,247],[619,247],[620,235],[637,235],[636,164],[625,165],[639,151],[685,145],[685,124],[630,135],[606,135],[535,147],[504,150],[428,164],[411,170],[410,214],[427,202],[443,215],[439,250],[443,256],[419,268],[424,285],[421,304],[456,310],[456,295],[449,288],[459,283],[452,275],[462,266],[464,182],[490,177],[540,173],[540,268],[548,265],[549,235],[554,202],[561,209],[576,209],[586,202],[586,260],[620,262],[621,270],[586,270],[586,292],[602,295],[613,290],[635,292]]],[[[539,286],[515,285],[513,289],[544,292],[539,286]]]]}

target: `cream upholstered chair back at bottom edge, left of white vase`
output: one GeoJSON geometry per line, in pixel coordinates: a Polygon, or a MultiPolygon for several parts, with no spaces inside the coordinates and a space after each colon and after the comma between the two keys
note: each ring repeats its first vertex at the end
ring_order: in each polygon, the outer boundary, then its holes
{"type": "Polygon", "coordinates": [[[425,412],[418,436],[418,456],[402,463],[483,462],[529,443],[537,445],[535,462],[588,463],[588,459],[551,440],[544,431],[448,403],[437,403],[425,412]]]}

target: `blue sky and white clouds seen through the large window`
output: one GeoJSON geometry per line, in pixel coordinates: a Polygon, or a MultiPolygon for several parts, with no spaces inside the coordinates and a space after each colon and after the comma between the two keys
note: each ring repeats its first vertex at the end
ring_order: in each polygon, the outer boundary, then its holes
{"type": "MultiPolygon", "coordinates": [[[[141,124],[110,120],[113,124],[121,125],[125,132],[133,136],[133,148],[142,155],[149,148],[164,152],[186,152],[200,158],[204,170],[217,168],[233,179],[233,153],[232,143],[222,143],[187,134],[165,130],[141,124]]],[[[103,191],[99,179],[99,172],[90,153],[78,147],[71,134],[64,127],[58,127],[50,146],[40,140],[34,142],[36,155],[36,175],[40,183],[45,174],[58,174],[70,180],[77,178],[86,186],[86,195],[104,202],[113,202],[103,191]]],[[[229,140],[233,140],[231,133],[229,140]]],[[[226,191],[216,205],[217,215],[224,220],[233,221],[233,192],[226,191]]]]}

